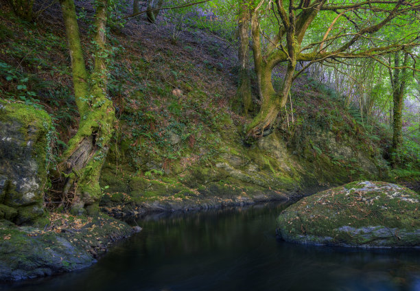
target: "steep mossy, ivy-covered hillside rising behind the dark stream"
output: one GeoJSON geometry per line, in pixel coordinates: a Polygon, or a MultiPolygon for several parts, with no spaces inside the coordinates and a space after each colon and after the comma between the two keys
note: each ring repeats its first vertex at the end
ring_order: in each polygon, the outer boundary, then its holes
{"type": "MultiPolygon", "coordinates": [[[[78,5],[93,13],[86,3],[78,5]]],[[[51,5],[35,23],[2,8],[1,95],[51,115],[48,159],[56,169],[80,118],[60,6],[51,5]]],[[[390,147],[386,128],[367,126],[336,91],[305,75],[292,86],[274,132],[244,142],[259,101],[248,117],[240,114],[234,47],[199,23],[177,30],[167,20],[132,20],[111,27],[108,36],[108,94],[117,123],[100,175],[104,210],[231,205],[299,197],[360,179],[399,178],[384,159],[390,147]]],[[[82,32],[89,29],[89,22],[80,21],[82,32]]],[[[89,67],[88,43],[82,34],[89,67]]],[[[275,86],[284,73],[279,67],[275,86]]],[[[69,209],[71,193],[56,195],[63,186],[49,182],[47,207],[69,209]]]]}

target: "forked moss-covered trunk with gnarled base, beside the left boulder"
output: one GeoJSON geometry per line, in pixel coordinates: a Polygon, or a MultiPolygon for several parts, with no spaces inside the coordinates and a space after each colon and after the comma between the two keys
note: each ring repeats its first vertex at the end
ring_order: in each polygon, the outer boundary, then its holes
{"type": "Polygon", "coordinates": [[[93,43],[95,65],[89,76],[84,65],[73,0],[61,0],[65,21],[79,128],[63,154],[60,170],[65,176],[64,195],[75,213],[97,211],[101,189],[100,171],[113,133],[115,109],[106,95],[106,0],[98,0],[93,43]]]}

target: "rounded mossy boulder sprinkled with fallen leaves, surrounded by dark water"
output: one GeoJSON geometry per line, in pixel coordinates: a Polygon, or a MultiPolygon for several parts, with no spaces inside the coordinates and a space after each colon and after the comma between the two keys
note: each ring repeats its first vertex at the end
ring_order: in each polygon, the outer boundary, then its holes
{"type": "Polygon", "coordinates": [[[277,234],[301,244],[419,248],[419,201],[406,187],[353,182],[285,209],[277,219],[277,234]]]}

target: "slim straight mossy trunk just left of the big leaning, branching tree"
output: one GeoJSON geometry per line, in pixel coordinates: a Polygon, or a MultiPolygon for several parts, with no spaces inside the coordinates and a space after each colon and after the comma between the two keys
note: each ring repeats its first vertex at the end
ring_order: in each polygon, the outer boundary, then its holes
{"type": "Polygon", "coordinates": [[[238,20],[240,47],[239,47],[239,83],[237,88],[237,96],[243,102],[243,113],[248,115],[248,111],[252,110],[253,99],[250,86],[250,68],[249,68],[249,25],[250,13],[248,5],[242,3],[240,5],[240,13],[238,20]]]}

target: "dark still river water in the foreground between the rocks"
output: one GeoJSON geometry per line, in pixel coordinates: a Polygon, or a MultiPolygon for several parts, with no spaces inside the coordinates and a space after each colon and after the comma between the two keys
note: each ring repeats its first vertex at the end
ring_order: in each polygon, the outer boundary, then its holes
{"type": "Polygon", "coordinates": [[[419,251],[281,242],[275,237],[275,218],[284,208],[257,205],[148,216],[137,221],[141,233],[112,248],[95,266],[8,288],[420,291],[419,251]]]}

